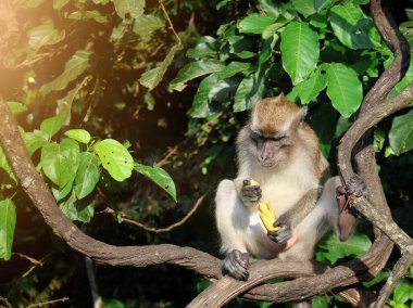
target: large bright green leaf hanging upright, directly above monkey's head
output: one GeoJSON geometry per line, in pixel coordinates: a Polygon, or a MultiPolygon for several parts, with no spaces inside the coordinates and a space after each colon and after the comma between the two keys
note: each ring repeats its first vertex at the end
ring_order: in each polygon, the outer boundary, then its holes
{"type": "Polygon", "coordinates": [[[315,68],[320,49],[318,35],[309,24],[292,22],[281,34],[283,67],[291,78],[292,85],[304,80],[315,68]]]}

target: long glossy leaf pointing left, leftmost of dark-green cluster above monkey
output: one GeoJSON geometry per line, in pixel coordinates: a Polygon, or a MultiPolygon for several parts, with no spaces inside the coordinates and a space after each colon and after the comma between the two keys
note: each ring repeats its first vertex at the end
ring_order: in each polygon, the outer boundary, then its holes
{"type": "Polygon", "coordinates": [[[186,82],[215,72],[223,69],[224,65],[217,60],[201,60],[190,62],[185,65],[178,73],[178,76],[171,81],[170,87],[173,90],[182,91],[186,88],[186,82]]]}

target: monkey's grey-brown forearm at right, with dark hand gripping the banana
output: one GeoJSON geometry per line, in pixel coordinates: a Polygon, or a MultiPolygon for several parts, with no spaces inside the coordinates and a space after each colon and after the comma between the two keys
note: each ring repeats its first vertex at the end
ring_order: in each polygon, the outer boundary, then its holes
{"type": "Polygon", "coordinates": [[[275,221],[274,227],[280,228],[276,231],[268,231],[268,238],[278,244],[284,244],[291,239],[292,229],[315,207],[322,191],[322,188],[309,190],[292,208],[275,221]]]}

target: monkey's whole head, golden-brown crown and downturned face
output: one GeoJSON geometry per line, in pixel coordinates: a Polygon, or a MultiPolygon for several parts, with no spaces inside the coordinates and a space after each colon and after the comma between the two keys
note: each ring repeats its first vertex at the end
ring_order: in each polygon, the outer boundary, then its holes
{"type": "Polygon", "coordinates": [[[249,149],[261,167],[272,168],[289,158],[305,115],[306,107],[298,107],[283,94],[255,103],[247,128],[249,149]]]}

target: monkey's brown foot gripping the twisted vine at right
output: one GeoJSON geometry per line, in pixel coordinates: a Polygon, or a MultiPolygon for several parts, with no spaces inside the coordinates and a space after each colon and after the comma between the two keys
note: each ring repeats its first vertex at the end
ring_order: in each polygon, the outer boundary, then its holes
{"type": "Polygon", "coordinates": [[[347,241],[353,232],[356,222],[356,213],[351,208],[354,198],[367,195],[367,189],[359,176],[350,179],[348,187],[338,187],[336,198],[338,205],[338,231],[340,241],[347,241]]]}

